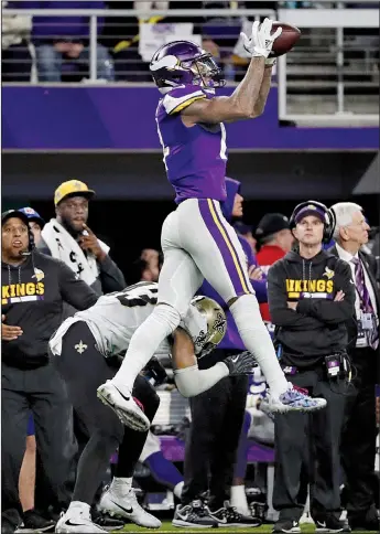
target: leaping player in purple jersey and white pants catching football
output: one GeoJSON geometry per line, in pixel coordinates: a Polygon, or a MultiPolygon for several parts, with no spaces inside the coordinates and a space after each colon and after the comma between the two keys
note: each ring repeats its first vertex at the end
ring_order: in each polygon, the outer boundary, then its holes
{"type": "Polygon", "coordinates": [[[227,163],[224,122],[252,119],[262,114],[271,83],[268,58],[281,28],[254,22],[246,50],[252,55],[242,82],[231,96],[215,97],[225,85],[210,54],[188,41],[162,46],[150,68],[164,95],[156,110],[167,178],[176,192],[175,212],[162,227],[164,264],[159,280],[159,306],[137,330],[123,364],[98,396],[115,406],[126,425],[146,429],[143,413],[131,391],[139,372],[162,340],[186,314],[188,303],[206,278],[229,307],[241,339],[262,369],[270,392],[262,408],[272,412],[313,410],[323,399],[312,399],[290,385],[279,365],[249,281],[245,255],[234,228],[222,216],[227,163]]]}

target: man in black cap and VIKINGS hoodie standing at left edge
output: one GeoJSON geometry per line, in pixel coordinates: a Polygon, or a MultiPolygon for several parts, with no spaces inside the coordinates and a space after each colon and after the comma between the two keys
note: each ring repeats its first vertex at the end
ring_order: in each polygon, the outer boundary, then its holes
{"type": "Polygon", "coordinates": [[[14,532],[17,512],[26,528],[41,527],[34,511],[22,513],[18,491],[30,412],[52,500],[66,502],[64,485],[74,452],[72,416],[64,383],[48,360],[47,342],[61,324],[64,302],[83,310],[98,297],[62,261],[33,249],[24,213],[3,213],[1,227],[2,532],[14,532]]]}

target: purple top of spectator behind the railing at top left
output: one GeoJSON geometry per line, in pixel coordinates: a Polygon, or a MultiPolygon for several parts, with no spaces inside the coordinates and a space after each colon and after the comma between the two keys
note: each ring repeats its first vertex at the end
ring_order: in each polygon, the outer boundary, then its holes
{"type": "MultiPolygon", "coordinates": [[[[8,4],[13,9],[105,9],[101,0],[13,0],[8,4]]],[[[97,18],[98,34],[104,26],[104,18],[97,18]]],[[[89,17],[33,17],[32,36],[34,42],[89,39],[89,17]]]]}

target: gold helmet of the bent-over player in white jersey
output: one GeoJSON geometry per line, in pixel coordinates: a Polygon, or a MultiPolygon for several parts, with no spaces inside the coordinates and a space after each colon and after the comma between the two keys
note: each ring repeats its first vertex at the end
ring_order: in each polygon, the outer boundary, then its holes
{"type": "Polygon", "coordinates": [[[203,357],[225,337],[227,319],[218,302],[199,295],[192,300],[182,325],[193,340],[195,354],[203,357]]]}

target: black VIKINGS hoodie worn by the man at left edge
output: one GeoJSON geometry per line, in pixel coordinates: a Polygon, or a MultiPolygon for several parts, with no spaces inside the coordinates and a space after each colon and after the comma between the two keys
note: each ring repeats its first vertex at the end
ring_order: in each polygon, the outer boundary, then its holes
{"type": "Polygon", "coordinates": [[[2,341],[2,361],[12,367],[35,369],[47,363],[47,342],[62,321],[63,302],[78,310],[98,296],[63,261],[33,250],[20,266],[1,263],[1,312],[6,323],[23,331],[2,341]]]}

